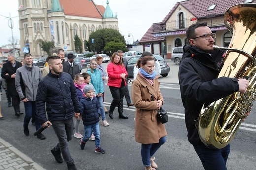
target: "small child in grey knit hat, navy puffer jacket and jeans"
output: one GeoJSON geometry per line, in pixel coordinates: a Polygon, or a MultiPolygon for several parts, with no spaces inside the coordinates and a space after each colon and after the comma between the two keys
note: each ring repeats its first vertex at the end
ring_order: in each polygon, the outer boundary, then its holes
{"type": "Polygon", "coordinates": [[[92,85],[85,85],[84,95],[80,100],[82,120],[85,128],[85,135],[81,139],[80,149],[84,149],[85,143],[92,135],[92,130],[95,136],[95,152],[103,154],[105,150],[100,147],[100,130],[99,117],[100,108],[97,105],[97,98],[94,96],[94,87],[92,85]]]}

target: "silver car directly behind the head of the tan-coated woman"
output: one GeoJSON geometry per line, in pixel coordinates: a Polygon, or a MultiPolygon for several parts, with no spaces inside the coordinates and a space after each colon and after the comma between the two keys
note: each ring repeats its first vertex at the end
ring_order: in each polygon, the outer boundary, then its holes
{"type": "MultiPolygon", "coordinates": [[[[133,77],[134,66],[137,64],[137,61],[140,57],[141,57],[141,55],[123,57],[124,62],[127,63],[128,77],[133,77]]],[[[163,77],[168,76],[168,74],[171,70],[169,64],[165,61],[165,59],[163,57],[161,57],[158,54],[153,54],[153,57],[155,57],[158,60],[158,62],[160,63],[161,75],[163,77]]]]}

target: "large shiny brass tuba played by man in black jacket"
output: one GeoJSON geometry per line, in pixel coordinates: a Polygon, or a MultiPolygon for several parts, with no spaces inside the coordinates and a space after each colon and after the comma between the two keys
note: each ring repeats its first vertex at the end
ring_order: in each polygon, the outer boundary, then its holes
{"type": "Polygon", "coordinates": [[[198,119],[201,141],[209,148],[224,148],[234,138],[246,113],[256,100],[256,4],[230,7],[224,14],[225,26],[233,33],[218,77],[246,78],[246,93],[235,92],[202,108],[198,119]]]}

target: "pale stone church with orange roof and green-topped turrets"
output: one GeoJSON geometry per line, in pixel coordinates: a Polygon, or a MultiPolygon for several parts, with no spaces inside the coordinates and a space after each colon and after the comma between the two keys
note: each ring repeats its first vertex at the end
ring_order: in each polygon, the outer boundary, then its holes
{"type": "Polygon", "coordinates": [[[106,0],[106,8],[93,0],[19,0],[20,45],[34,57],[41,57],[42,41],[52,41],[57,48],[75,51],[78,35],[83,49],[91,32],[112,28],[119,31],[117,16],[106,0]]]}

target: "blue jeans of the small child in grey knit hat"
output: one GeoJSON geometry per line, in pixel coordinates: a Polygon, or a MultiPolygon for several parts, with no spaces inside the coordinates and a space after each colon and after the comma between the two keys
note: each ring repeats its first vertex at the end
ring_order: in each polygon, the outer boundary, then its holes
{"type": "Polygon", "coordinates": [[[83,142],[87,142],[91,137],[93,131],[95,136],[95,147],[100,146],[100,130],[98,122],[92,125],[85,125],[85,135],[83,137],[83,142]]]}

